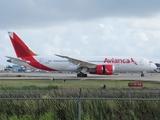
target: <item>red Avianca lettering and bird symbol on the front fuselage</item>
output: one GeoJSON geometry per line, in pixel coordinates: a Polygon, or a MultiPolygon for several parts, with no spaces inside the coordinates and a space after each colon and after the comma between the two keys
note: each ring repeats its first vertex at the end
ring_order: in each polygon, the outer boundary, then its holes
{"type": "Polygon", "coordinates": [[[135,65],[138,65],[136,61],[134,61],[133,58],[131,59],[109,59],[109,58],[105,58],[104,59],[104,63],[122,63],[122,64],[129,64],[129,63],[134,63],[135,65]]]}

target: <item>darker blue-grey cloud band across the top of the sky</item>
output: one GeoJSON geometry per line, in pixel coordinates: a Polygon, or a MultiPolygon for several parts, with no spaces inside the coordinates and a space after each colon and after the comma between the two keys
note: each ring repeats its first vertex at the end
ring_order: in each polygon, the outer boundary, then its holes
{"type": "Polygon", "coordinates": [[[160,11],[154,0],[1,0],[1,29],[39,28],[104,17],[149,17],[160,11]]]}

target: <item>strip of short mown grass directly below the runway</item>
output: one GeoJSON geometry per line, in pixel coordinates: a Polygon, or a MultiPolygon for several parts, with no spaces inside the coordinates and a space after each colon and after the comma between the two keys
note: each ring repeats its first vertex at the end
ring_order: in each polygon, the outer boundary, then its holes
{"type": "MultiPolygon", "coordinates": [[[[126,81],[126,80],[0,80],[0,86],[58,86],[62,89],[98,89],[106,85],[106,89],[122,89],[129,88],[128,83],[136,81],[126,81]]],[[[138,87],[139,88],[139,87],[138,87]]],[[[148,89],[159,89],[160,84],[155,82],[143,82],[143,88],[148,89]]]]}

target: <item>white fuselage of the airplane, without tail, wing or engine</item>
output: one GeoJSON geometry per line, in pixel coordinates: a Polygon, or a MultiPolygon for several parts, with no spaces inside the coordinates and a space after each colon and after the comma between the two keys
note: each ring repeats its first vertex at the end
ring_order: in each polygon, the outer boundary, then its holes
{"type": "MultiPolygon", "coordinates": [[[[66,58],[58,56],[45,57],[34,56],[37,62],[44,66],[58,71],[77,71],[79,65],[75,65],[66,58]]],[[[115,67],[115,72],[142,72],[156,69],[156,66],[151,61],[140,57],[127,56],[98,56],[98,57],[74,57],[79,60],[91,62],[94,64],[112,64],[115,67]]]]}

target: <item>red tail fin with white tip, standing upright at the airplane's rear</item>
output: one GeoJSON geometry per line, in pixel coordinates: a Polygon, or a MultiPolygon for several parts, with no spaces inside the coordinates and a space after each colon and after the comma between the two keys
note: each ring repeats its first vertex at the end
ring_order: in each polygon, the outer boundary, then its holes
{"type": "Polygon", "coordinates": [[[32,50],[30,50],[29,47],[14,32],[8,32],[8,34],[12,41],[12,45],[17,57],[23,58],[37,55],[32,50]]]}

